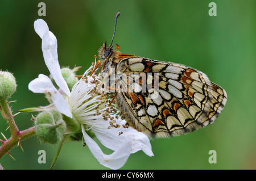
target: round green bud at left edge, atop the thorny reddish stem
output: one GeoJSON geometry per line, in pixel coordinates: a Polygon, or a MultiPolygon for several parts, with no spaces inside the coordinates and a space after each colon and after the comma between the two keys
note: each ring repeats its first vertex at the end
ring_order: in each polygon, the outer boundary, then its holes
{"type": "Polygon", "coordinates": [[[16,80],[8,71],[0,71],[0,99],[9,99],[16,91],[16,80]]]}

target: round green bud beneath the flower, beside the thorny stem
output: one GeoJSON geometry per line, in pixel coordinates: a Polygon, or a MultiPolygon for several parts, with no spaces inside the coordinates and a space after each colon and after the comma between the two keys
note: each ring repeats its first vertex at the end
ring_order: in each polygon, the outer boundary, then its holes
{"type": "Polygon", "coordinates": [[[66,124],[60,112],[51,110],[39,113],[36,117],[35,128],[40,140],[49,144],[57,144],[65,133],[66,124]]]}

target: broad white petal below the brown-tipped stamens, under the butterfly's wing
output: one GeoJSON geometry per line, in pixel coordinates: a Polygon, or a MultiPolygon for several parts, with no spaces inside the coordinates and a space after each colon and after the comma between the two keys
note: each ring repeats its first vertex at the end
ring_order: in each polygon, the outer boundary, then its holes
{"type": "MultiPolygon", "coordinates": [[[[97,122],[99,121],[100,120],[98,120],[97,122]]],[[[97,123],[92,127],[92,130],[95,133],[98,140],[100,140],[102,145],[115,151],[119,148],[119,145],[123,144],[123,142],[130,140],[132,143],[131,153],[135,153],[139,150],[142,150],[148,156],[150,157],[154,156],[151,150],[151,144],[148,137],[144,133],[138,132],[137,130],[131,127],[123,128],[122,125],[126,124],[126,121],[119,119],[117,120],[116,123],[121,125],[121,127],[120,128],[113,127],[110,129],[108,129],[109,127],[108,121],[103,120],[101,122],[104,122],[105,124],[97,123]],[[102,130],[102,127],[105,126],[106,131],[105,132],[97,131],[98,130],[97,125],[100,125],[101,127],[101,129],[99,130],[102,130]],[[119,135],[119,133],[121,132],[122,134],[119,135]]]]}

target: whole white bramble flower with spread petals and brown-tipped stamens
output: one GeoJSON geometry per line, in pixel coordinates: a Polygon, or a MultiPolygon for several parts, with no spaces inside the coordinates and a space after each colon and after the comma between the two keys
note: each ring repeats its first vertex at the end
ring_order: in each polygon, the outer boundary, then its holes
{"type": "MultiPolygon", "coordinates": [[[[42,38],[44,61],[60,90],[43,74],[28,85],[35,93],[49,93],[57,110],[81,125],[81,131],[88,148],[96,159],[110,169],[122,167],[131,153],[139,150],[152,156],[148,137],[133,128],[126,128],[126,121],[117,116],[117,110],[106,107],[108,100],[97,91],[97,76],[88,76],[88,69],[70,92],[67,83],[61,75],[57,60],[57,40],[42,19],[35,21],[35,31],[42,38]],[[122,126],[124,125],[124,126],[122,126]],[[100,146],[86,133],[91,129],[101,144],[112,149],[113,153],[106,155],[100,146]]],[[[91,67],[92,68],[92,67],[91,67]]]]}

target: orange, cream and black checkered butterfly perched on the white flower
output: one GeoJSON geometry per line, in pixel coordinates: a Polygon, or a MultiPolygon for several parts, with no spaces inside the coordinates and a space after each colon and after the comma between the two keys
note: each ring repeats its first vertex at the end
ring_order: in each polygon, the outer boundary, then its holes
{"type": "Polygon", "coordinates": [[[114,35],[110,46],[104,43],[98,50],[102,80],[106,87],[114,86],[115,104],[131,127],[149,137],[179,136],[212,124],[220,115],[227,94],[207,75],[173,62],[121,54],[113,48],[114,35]]]}

